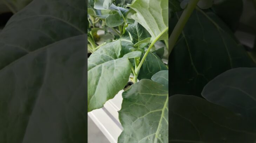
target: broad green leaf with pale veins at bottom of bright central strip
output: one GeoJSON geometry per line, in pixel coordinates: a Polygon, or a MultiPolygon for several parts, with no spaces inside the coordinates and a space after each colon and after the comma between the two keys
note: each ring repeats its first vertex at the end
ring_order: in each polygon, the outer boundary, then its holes
{"type": "Polygon", "coordinates": [[[168,90],[143,79],[122,94],[119,120],[123,131],[118,143],[168,142],[168,90]]]}

